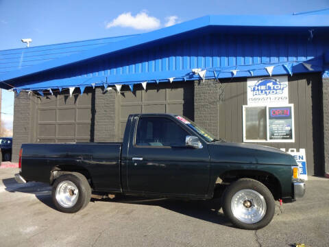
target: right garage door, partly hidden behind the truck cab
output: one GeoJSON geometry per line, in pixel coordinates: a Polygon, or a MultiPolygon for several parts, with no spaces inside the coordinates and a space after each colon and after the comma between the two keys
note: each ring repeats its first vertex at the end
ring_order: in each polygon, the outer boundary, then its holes
{"type": "Polygon", "coordinates": [[[173,113],[194,118],[193,82],[147,84],[147,91],[134,86],[134,92],[121,93],[117,108],[117,140],[123,139],[127,117],[134,113],[173,113]]]}

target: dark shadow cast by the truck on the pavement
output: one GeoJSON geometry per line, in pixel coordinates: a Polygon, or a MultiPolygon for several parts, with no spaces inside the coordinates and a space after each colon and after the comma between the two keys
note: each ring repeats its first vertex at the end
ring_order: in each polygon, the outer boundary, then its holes
{"type": "MultiPolygon", "coordinates": [[[[51,209],[55,209],[51,199],[51,187],[45,183],[29,182],[26,184],[16,183],[14,178],[6,178],[2,180],[5,185],[5,191],[31,193],[46,204],[51,209]]],[[[200,220],[205,220],[215,224],[232,226],[226,217],[219,210],[221,209],[221,200],[173,200],[167,198],[144,198],[136,196],[116,196],[114,199],[96,199],[92,198],[91,202],[112,202],[112,203],[127,203],[127,204],[143,204],[149,206],[158,206],[164,209],[175,211],[183,215],[195,217],[200,220]]]]}

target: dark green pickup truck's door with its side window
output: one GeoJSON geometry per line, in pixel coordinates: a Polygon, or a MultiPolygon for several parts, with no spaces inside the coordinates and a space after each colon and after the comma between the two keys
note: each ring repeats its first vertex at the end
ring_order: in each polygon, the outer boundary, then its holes
{"type": "Polygon", "coordinates": [[[186,147],[186,136],[193,132],[169,116],[141,116],[136,121],[127,155],[128,191],[205,196],[210,179],[206,144],[186,147]]]}

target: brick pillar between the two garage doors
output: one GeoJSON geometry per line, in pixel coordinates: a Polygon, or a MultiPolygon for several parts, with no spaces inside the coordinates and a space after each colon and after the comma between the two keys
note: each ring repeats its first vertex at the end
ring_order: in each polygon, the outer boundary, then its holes
{"type": "Polygon", "coordinates": [[[115,91],[95,89],[95,142],[115,140],[115,91]]]}

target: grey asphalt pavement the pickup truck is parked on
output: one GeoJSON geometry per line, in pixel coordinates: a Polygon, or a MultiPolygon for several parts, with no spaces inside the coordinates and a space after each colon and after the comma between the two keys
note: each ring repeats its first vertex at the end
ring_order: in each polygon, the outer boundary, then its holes
{"type": "Polygon", "coordinates": [[[276,203],[258,231],[234,228],[219,200],[119,197],[86,209],[56,211],[51,187],[19,185],[16,168],[0,169],[0,246],[329,246],[329,179],[310,177],[306,195],[276,203]]]}

